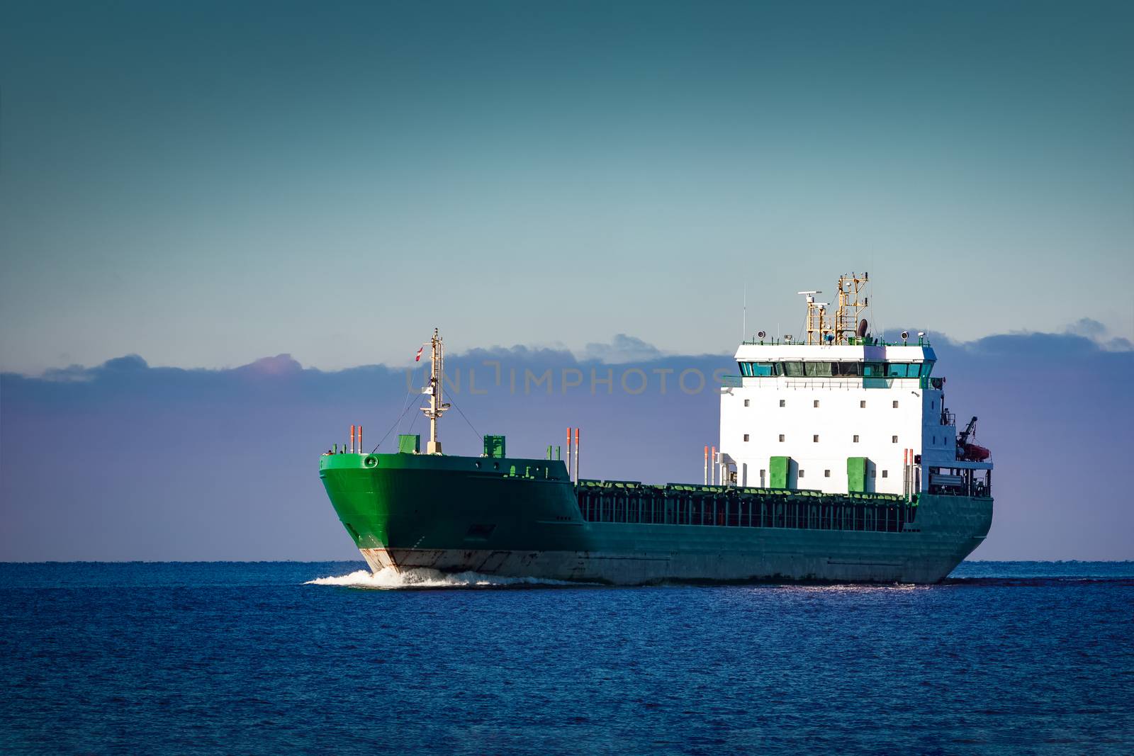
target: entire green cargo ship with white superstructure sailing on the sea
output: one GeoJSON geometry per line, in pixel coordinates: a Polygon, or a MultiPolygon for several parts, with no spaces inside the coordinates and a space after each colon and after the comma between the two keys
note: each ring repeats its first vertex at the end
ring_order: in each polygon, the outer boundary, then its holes
{"type": "Polygon", "coordinates": [[[929,342],[885,343],[855,324],[865,280],[840,279],[838,316],[820,313],[814,329],[809,295],[805,342],[761,332],[741,345],[741,375],[720,389],[721,448],[699,484],[577,479],[570,445],[566,461],[514,458],[500,436],[481,457],[442,455],[435,331],[425,452],[404,436],[397,453],[363,453],[359,432],[357,450],[352,439],[322,456],[320,477],[374,571],[937,583],[989,532],[992,465],[972,423],[957,434],[929,342]]]}

